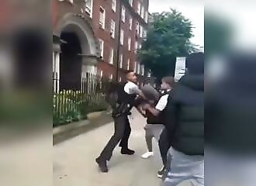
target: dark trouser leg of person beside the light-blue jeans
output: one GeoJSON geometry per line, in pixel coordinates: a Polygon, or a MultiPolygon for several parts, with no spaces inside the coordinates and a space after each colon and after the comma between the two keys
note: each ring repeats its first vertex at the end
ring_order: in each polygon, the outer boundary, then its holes
{"type": "Polygon", "coordinates": [[[168,138],[168,131],[166,128],[161,133],[160,139],[158,141],[158,146],[160,149],[163,164],[164,164],[164,166],[166,166],[167,165],[167,153],[168,153],[168,150],[171,148],[171,142],[168,138]]]}

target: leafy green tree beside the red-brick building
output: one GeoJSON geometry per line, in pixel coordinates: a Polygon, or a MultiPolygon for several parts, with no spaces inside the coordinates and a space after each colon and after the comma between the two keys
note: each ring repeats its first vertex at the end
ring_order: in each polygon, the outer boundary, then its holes
{"type": "Polygon", "coordinates": [[[174,76],[176,57],[185,57],[195,49],[189,41],[192,36],[192,22],[181,12],[171,9],[171,12],[154,13],[147,40],[138,51],[139,60],[157,81],[167,75],[174,76]]]}

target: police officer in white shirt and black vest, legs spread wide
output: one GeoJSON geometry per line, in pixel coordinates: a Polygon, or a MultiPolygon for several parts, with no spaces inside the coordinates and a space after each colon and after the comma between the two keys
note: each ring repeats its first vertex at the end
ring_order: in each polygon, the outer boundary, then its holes
{"type": "Polygon", "coordinates": [[[112,157],[112,151],[119,142],[119,146],[122,148],[122,154],[133,155],[135,153],[128,148],[128,140],[131,132],[128,115],[130,114],[131,108],[135,105],[137,95],[142,98],[145,98],[145,96],[136,84],[137,76],[133,71],[128,71],[126,79],[127,82],[118,91],[116,108],[113,108],[112,111],[115,124],[114,134],[104,150],[102,150],[100,156],[96,158],[96,163],[99,165],[100,170],[105,173],[108,172],[107,161],[112,157]]]}

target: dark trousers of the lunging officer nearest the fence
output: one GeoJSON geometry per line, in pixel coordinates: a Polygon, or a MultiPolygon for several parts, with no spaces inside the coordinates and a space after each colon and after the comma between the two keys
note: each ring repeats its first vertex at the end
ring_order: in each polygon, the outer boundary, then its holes
{"type": "Polygon", "coordinates": [[[114,124],[115,132],[104,150],[102,150],[102,153],[99,157],[100,160],[110,160],[113,150],[116,148],[120,141],[121,142],[119,146],[121,146],[123,149],[128,149],[128,140],[130,137],[131,129],[127,115],[114,118],[114,124]]]}

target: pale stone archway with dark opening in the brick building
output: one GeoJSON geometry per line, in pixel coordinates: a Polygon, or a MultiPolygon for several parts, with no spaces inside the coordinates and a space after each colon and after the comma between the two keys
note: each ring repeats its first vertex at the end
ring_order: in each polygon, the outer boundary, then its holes
{"type": "Polygon", "coordinates": [[[57,60],[60,64],[56,69],[60,88],[78,90],[81,78],[87,72],[97,73],[99,41],[85,17],[73,13],[64,15],[55,34],[62,40],[61,55],[57,60]]]}

